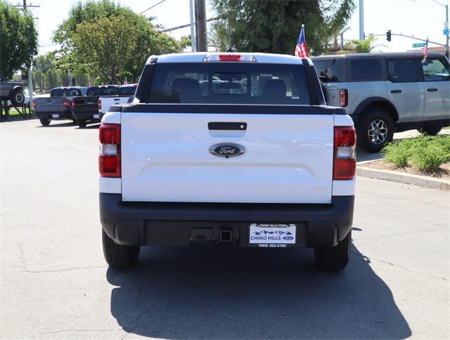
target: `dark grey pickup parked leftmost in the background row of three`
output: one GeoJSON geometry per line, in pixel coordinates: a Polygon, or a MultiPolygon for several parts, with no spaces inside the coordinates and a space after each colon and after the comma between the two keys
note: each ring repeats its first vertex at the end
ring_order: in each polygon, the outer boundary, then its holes
{"type": "Polygon", "coordinates": [[[33,100],[34,117],[42,126],[48,126],[53,119],[72,119],[70,104],[74,97],[86,96],[86,87],[70,86],[51,89],[50,97],[33,100]]]}

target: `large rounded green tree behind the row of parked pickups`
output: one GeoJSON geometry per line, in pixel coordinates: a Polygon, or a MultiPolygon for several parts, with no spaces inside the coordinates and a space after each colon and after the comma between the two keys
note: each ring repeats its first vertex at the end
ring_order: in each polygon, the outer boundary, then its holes
{"type": "Polygon", "coordinates": [[[58,64],[96,82],[134,81],[150,55],[181,51],[179,41],[158,28],[111,0],[78,2],[53,36],[63,46],[58,64]]]}

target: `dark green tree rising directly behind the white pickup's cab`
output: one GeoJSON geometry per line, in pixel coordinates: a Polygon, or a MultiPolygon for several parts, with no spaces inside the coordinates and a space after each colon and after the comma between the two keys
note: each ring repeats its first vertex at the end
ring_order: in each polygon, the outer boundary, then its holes
{"type": "Polygon", "coordinates": [[[220,17],[216,27],[218,46],[237,51],[293,54],[302,23],[311,54],[326,51],[330,39],[345,27],[354,10],[354,0],[252,1],[212,0],[220,17]],[[225,38],[224,38],[225,37],[225,38]]]}

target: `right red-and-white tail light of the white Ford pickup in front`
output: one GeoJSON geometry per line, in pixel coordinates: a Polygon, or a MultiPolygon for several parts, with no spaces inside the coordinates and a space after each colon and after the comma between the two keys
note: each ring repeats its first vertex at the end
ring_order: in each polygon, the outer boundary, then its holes
{"type": "Polygon", "coordinates": [[[356,172],[356,131],[353,126],[335,126],[333,180],[351,180],[356,172]]]}

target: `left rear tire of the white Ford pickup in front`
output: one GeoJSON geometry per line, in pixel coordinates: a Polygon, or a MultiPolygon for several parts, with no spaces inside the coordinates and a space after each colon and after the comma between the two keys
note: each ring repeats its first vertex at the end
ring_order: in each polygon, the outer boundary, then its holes
{"type": "Polygon", "coordinates": [[[139,259],[141,246],[124,246],[117,244],[106,235],[105,230],[101,230],[103,241],[103,255],[110,267],[117,269],[130,268],[139,259]]]}

